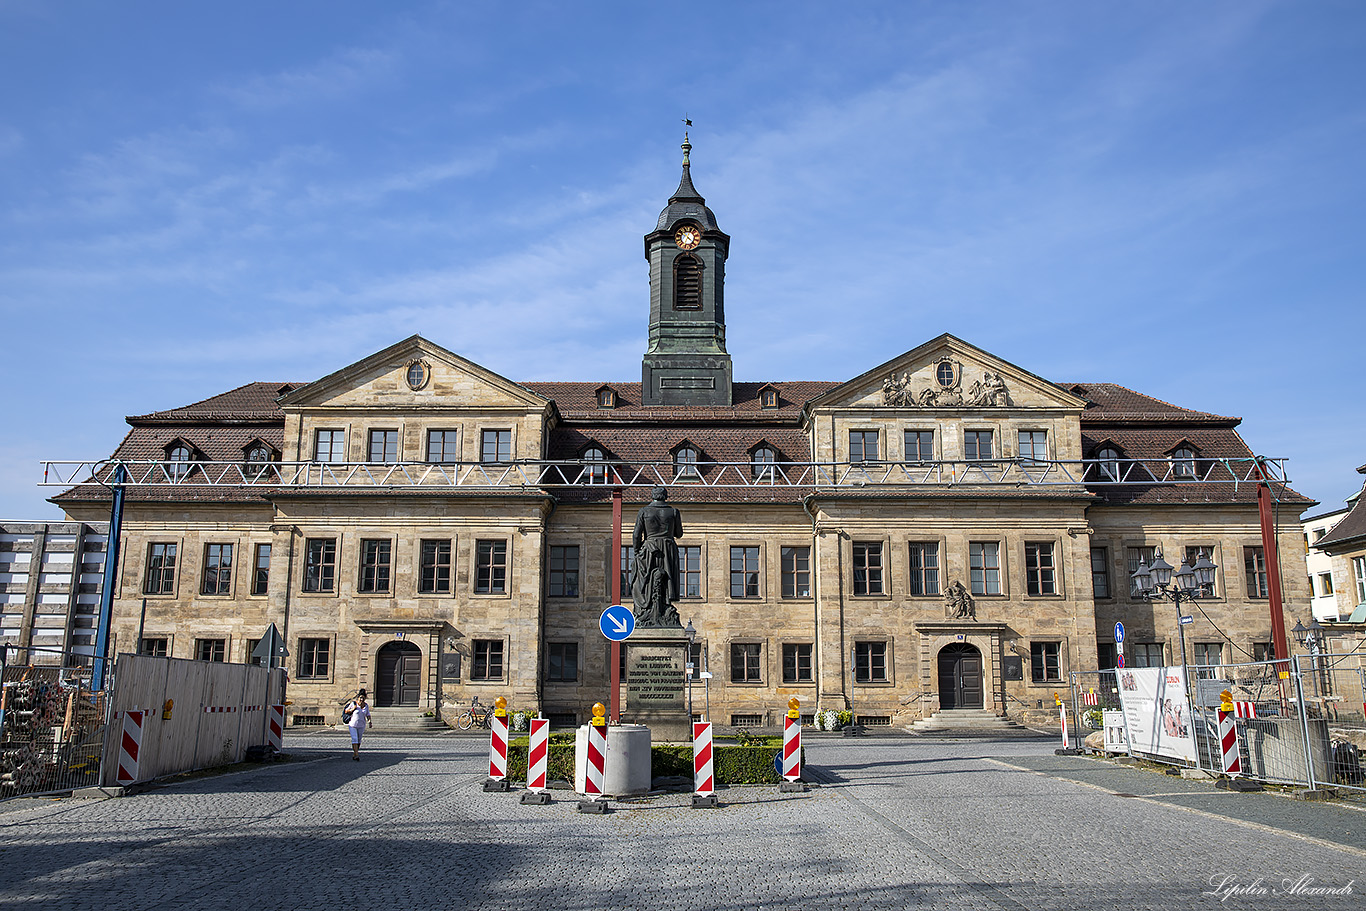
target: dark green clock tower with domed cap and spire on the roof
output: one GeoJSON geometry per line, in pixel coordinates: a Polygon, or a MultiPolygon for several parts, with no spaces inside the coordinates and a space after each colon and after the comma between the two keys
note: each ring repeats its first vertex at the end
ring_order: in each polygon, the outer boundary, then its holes
{"type": "Polygon", "coordinates": [[[724,309],[731,238],[693,186],[691,150],[683,134],[683,179],[645,235],[650,343],[641,370],[642,404],[731,404],[724,309]]]}

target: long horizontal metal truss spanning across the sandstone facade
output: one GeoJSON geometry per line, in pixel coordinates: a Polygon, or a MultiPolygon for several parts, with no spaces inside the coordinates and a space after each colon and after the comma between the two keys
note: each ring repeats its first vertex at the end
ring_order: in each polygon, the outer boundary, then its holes
{"type": "Polygon", "coordinates": [[[940,462],[42,462],[40,486],[108,486],[123,466],[131,488],[1048,488],[1288,482],[1285,459],[1038,459],[940,462]]]}

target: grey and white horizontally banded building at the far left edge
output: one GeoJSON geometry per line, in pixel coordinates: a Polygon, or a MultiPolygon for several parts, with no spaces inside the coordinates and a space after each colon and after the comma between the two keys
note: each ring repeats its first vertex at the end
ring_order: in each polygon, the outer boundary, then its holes
{"type": "Polygon", "coordinates": [[[0,522],[0,643],[19,661],[93,656],[108,522],[0,522]]]}

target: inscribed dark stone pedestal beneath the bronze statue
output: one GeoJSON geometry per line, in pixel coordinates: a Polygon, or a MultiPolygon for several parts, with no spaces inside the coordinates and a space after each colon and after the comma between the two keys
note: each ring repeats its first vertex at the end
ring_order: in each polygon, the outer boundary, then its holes
{"type": "Polygon", "coordinates": [[[626,706],[622,721],[650,728],[656,743],[691,743],[687,713],[687,634],[637,628],[626,649],[626,706]]]}

